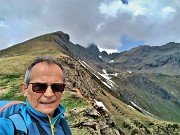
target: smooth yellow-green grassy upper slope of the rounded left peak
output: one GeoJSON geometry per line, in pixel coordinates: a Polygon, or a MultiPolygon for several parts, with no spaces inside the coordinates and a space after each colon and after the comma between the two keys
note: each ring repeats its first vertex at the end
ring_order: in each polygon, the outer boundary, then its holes
{"type": "Polygon", "coordinates": [[[0,50],[0,56],[6,57],[24,54],[38,55],[42,53],[54,54],[57,52],[65,53],[65,50],[61,46],[53,42],[54,38],[55,36],[51,34],[43,35],[38,38],[28,40],[24,43],[11,46],[7,49],[0,50]]]}

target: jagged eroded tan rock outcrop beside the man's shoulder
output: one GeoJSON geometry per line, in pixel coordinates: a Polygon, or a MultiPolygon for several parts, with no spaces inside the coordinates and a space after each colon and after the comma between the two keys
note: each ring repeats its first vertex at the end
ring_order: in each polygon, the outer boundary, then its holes
{"type": "Polygon", "coordinates": [[[108,112],[97,106],[75,108],[70,114],[81,117],[80,121],[72,125],[74,128],[86,128],[92,135],[123,135],[108,112]]]}

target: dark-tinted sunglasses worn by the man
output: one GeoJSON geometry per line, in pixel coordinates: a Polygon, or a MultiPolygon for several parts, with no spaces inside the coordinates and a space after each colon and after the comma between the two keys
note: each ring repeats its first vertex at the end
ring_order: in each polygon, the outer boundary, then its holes
{"type": "Polygon", "coordinates": [[[32,90],[36,93],[44,93],[47,90],[48,86],[51,86],[51,89],[53,92],[63,92],[65,88],[65,84],[63,83],[53,83],[53,84],[47,84],[47,83],[29,83],[32,84],[32,90]]]}

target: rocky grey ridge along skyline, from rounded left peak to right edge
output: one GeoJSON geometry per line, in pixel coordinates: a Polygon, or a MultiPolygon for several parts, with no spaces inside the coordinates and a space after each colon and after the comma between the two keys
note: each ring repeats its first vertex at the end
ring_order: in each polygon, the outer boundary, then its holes
{"type": "MultiPolygon", "coordinates": [[[[141,45],[129,51],[107,54],[105,51],[100,52],[94,43],[89,44],[86,48],[79,44],[73,44],[69,35],[62,31],[45,34],[29,41],[38,40],[58,44],[69,55],[85,60],[88,63],[90,63],[89,61],[105,63],[110,66],[109,69],[113,67],[120,69],[122,72],[132,70],[138,73],[155,72],[180,75],[180,43],[170,42],[163,46],[141,45]],[[174,69],[174,71],[170,72],[171,69],[174,69]]],[[[1,50],[2,52],[3,50],[1,50]]]]}

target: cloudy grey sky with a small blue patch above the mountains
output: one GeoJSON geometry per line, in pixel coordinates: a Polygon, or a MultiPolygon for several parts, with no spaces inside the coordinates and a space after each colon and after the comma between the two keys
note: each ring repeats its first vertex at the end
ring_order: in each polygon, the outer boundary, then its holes
{"type": "Polygon", "coordinates": [[[180,0],[0,0],[0,50],[56,31],[108,53],[180,43],[180,0]]]}

